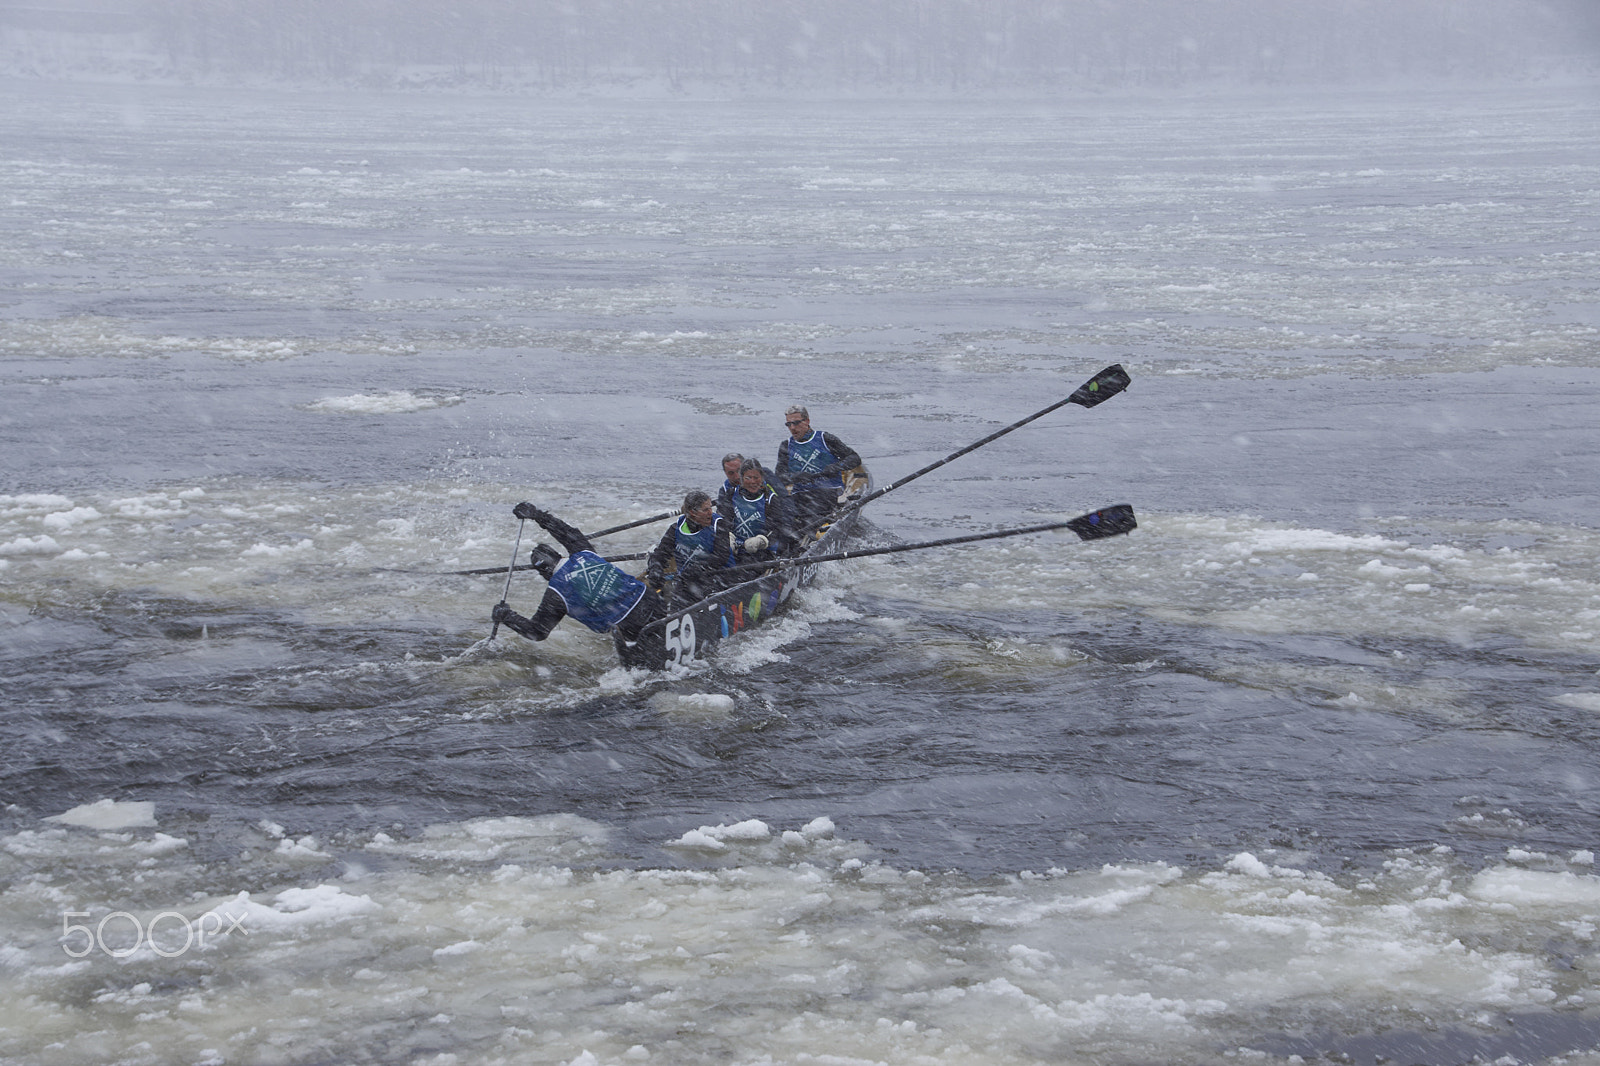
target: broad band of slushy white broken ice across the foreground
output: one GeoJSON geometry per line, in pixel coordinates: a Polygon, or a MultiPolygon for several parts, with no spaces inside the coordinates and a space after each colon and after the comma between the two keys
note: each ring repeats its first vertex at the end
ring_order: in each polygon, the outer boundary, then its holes
{"type": "Polygon", "coordinates": [[[541,1061],[586,1048],[597,1061],[675,1058],[702,1039],[739,1061],[1022,1063],[1053,1047],[1210,1061],[1254,1039],[1259,1018],[1306,1004],[1336,1004],[1346,1026],[1392,1024],[1395,989],[1422,1016],[1578,1007],[1582,984],[1549,952],[1549,930],[1587,944],[1600,908],[1587,852],[1509,852],[1478,872],[1448,850],[1397,852],[1350,877],[1261,852],[1211,869],[973,880],[878,861],[827,818],[685,826],[667,842],[683,868],[618,861],[608,842],[570,815],[483,818],[346,839],[328,848],[346,866],[339,884],[283,885],[296,864],[238,866],[237,850],[182,837],[0,837],[0,992],[26,988],[34,1004],[8,1047],[91,1061],[115,1036],[152,1061],[197,1047],[259,1058],[291,1026],[334,1060],[422,1026],[432,1048],[488,1040],[514,1060],[538,1047],[541,1061]],[[11,876],[19,863],[35,876],[11,876]],[[86,874],[101,866],[122,876],[86,874]],[[240,876],[253,880],[230,898],[194,895],[240,876]],[[70,936],[38,936],[62,911],[70,936]],[[120,956],[117,980],[85,997],[86,972],[62,944],[112,916],[109,933],[160,925],[160,951],[120,956]],[[186,922],[203,943],[184,940],[186,922]],[[163,981],[181,949],[206,952],[216,980],[163,981]]]}

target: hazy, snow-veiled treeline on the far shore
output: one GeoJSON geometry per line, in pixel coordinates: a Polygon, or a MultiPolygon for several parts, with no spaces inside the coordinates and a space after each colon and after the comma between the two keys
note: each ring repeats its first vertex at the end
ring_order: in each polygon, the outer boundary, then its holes
{"type": "Polygon", "coordinates": [[[176,75],[970,91],[1517,77],[1590,64],[1600,0],[0,0],[0,32],[176,75]]]}

